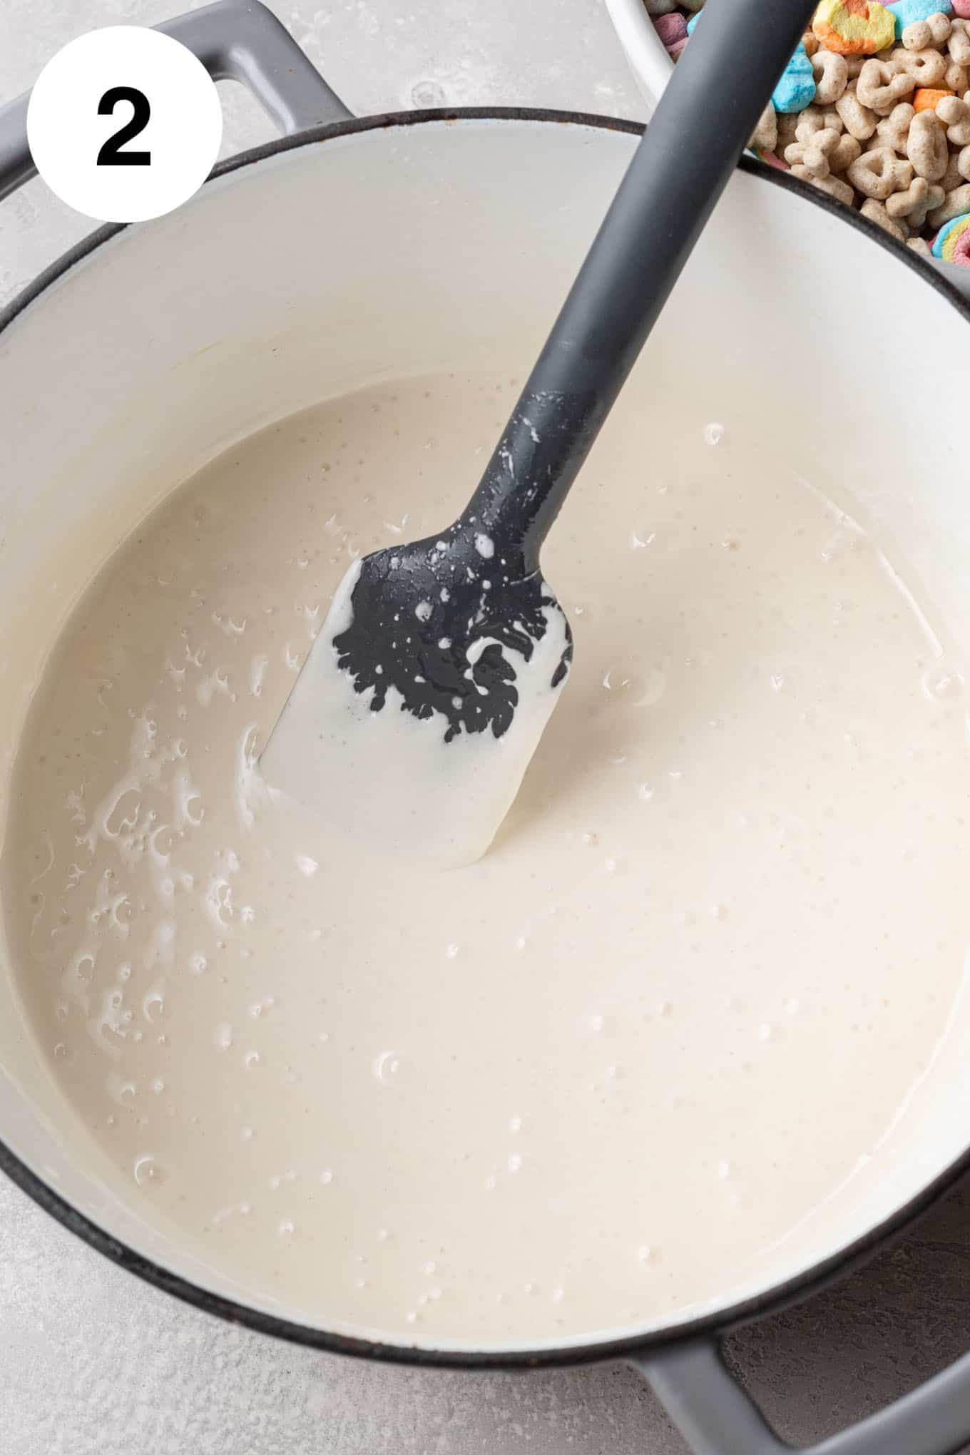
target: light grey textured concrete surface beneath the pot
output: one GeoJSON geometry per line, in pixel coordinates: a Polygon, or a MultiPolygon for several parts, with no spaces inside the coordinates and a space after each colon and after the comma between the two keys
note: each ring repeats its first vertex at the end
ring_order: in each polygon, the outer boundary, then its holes
{"type": "MultiPolygon", "coordinates": [[[[176,4],[0,0],[0,102],[74,35],[153,23],[176,4]]],[[[601,0],[282,0],[273,9],[358,112],[493,102],[641,115],[601,0]]],[[[225,90],[230,153],[269,128],[247,97],[225,90]]],[[[38,182],[7,202],[0,303],[86,230],[38,182]]],[[[862,1273],[745,1330],[729,1353],[778,1430],[804,1443],[967,1347],[970,1186],[862,1273]]],[[[624,1368],[380,1369],[231,1328],[121,1273],[0,1179],[1,1455],[189,1451],[684,1455],[685,1446],[624,1368]]]]}

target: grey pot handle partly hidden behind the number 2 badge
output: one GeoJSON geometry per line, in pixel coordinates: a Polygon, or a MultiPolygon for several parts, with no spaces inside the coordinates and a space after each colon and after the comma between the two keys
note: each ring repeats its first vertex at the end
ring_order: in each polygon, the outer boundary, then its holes
{"type": "MultiPolygon", "coordinates": [[[[260,0],[218,0],[156,26],[182,41],[215,81],[241,81],[285,134],[352,113],[260,0]]],[[[35,173],[28,147],[31,93],[0,108],[0,201],[35,173]]]]}

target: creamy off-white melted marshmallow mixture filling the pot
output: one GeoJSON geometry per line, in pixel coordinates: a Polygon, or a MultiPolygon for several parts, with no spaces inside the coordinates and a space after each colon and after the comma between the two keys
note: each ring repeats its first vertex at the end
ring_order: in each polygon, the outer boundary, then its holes
{"type": "Polygon", "coordinates": [[[545,551],[576,658],[489,854],[369,858],[269,796],[348,566],[455,517],[515,393],[368,390],[173,495],[49,659],[3,856],[113,1195],[260,1307],[423,1344],[663,1323],[787,1267],[891,1148],[970,931],[925,620],[823,496],[636,383],[545,551]]]}

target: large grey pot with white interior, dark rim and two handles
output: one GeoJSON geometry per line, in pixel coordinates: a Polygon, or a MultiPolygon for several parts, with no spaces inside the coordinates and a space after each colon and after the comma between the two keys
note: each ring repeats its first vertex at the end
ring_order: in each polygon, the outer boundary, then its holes
{"type": "MultiPolygon", "coordinates": [[[[640,132],[521,109],[356,121],[259,4],[224,0],[163,29],[214,76],[250,86],[285,135],[218,167],[177,212],[95,233],[0,317],[0,812],[58,623],[132,525],[227,444],[326,396],[432,368],[531,362],[640,132]]],[[[25,113],[25,100],[0,113],[0,196],[32,173],[25,113]]],[[[964,646],[970,503],[941,420],[966,418],[969,349],[970,307],[938,274],[747,160],[650,343],[716,409],[710,418],[756,425],[806,476],[835,467],[881,535],[905,543],[910,572],[932,579],[964,646]],[[925,359],[928,340],[932,367],[900,365],[925,359]]],[[[622,1358],[698,1455],[769,1455],[785,1446],[727,1374],[718,1339],[870,1254],[955,1179],[969,1160],[969,1048],[970,1013],[957,1010],[909,1131],[852,1206],[849,1238],[793,1257],[782,1283],[740,1307],[726,1295],[694,1323],[570,1347],[374,1344],[233,1298],[97,1181],[26,1032],[10,965],[0,969],[0,1167],[92,1247],[223,1318],[422,1365],[622,1358]]],[[[945,1455],[966,1439],[970,1356],[817,1455],[945,1455]]]]}

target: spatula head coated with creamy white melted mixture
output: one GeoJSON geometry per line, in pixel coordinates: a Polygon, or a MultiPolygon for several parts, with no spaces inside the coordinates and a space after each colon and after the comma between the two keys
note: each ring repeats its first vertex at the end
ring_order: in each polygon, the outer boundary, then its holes
{"type": "Polygon", "coordinates": [[[478,858],[569,674],[538,570],[474,522],[356,562],[262,755],[268,784],[371,848],[478,858]]]}

